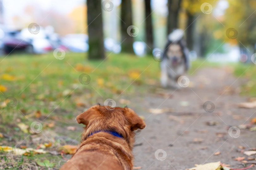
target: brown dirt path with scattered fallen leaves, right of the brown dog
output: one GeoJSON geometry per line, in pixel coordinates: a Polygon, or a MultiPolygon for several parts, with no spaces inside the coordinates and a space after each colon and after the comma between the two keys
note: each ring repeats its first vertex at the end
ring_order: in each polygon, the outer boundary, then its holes
{"type": "Polygon", "coordinates": [[[240,135],[232,138],[228,130],[232,126],[247,124],[256,114],[255,109],[237,107],[237,103],[247,100],[247,97],[239,96],[239,86],[245,80],[237,79],[231,72],[227,68],[201,69],[188,76],[190,86],[187,88],[175,91],[159,89],[162,96],[151,94],[134,99],[131,108],[144,116],[147,124],[137,134],[135,167],[184,170],[194,167],[194,164],[214,161],[230,164],[233,168],[243,167],[243,163],[234,159],[245,156],[247,160],[248,156],[241,153],[239,146],[244,146],[244,150],[255,148],[256,133],[240,129],[240,135]],[[203,109],[206,101],[214,104],[213,112],[203,109]],[[167,108],[167,111],[151,114],[148,108],[167,108]],[[213,155],[218,151],[219,155],[213,155]]]}

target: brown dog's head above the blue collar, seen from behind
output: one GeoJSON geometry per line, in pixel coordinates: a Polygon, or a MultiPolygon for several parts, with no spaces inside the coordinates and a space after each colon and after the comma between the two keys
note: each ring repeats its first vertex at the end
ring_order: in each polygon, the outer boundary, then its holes
{"type": "Polygon", "coordinates": [[[94,105],[76,117],[78,123],[84,124],[85,131],[82,140],[85,140],[91,133],[101,130],[115,131],[121,134],[129,147],[134,143],[133,132],[136,129],[146,127],[145,122],[130,108],[94,105]]]}

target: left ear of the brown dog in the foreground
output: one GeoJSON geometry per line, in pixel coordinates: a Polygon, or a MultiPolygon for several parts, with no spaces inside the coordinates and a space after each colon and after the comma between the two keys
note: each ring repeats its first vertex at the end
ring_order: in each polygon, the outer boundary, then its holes
{"type": "Polygon", "coordinates": [[[85,126],[88,126],[88,123],[91,119],[100,115],[100,113],[98,111],[98,107],[100,107],[100,105],[92,106],[88,110],[86,110],[85,112],[76,116],[77,123],[79,123],[79,124],[82,123],[85,126]]]}

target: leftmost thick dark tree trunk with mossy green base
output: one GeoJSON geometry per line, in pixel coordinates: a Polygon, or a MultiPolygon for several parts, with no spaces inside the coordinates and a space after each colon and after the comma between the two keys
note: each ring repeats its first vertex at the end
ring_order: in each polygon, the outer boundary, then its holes
{"type": "Polygon", "coordinates": [[[88,59],[104,59],[103,24],[101,14],[101,0],[87,0],[88,59]]]}

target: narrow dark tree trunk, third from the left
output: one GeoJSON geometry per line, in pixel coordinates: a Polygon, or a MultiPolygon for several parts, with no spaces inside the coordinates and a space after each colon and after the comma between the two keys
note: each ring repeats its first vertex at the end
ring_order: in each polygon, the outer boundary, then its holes
{"type": "Polygon", "coordinates": [[[153,27],[151,17],[151,0],[144,0],[145,2],[145,17],[146,17],[146,44],[147,54],[152,54],[153,50],[153,27]]]}

